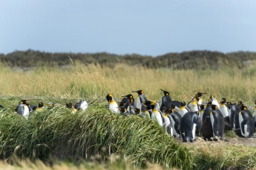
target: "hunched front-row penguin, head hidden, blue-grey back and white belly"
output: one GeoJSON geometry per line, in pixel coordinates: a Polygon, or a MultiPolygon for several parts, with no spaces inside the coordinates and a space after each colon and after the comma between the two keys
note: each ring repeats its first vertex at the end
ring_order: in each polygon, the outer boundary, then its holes
{"type": "Polygon", "coordinates": [[[193,142],[195,140],[196,125],[200,130],[202,129],[202,125],[196,111],[189,111],[181,118],[180,132],[183,142],[193,142]],[[185,136],[183,133],[185,133],[185,136]]]}

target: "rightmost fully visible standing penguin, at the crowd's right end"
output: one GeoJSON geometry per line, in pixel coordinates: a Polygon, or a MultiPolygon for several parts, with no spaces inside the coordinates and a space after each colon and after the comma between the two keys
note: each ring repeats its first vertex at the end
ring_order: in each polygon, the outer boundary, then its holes
{"type": "Polygon", "coordinates": [[[241,134],[245,138],[251,138],[255,132],[253,117],[250,110],[246,106],[241,106],[241,110],[242,111],[239,112],[238,116],[241,134]]]}

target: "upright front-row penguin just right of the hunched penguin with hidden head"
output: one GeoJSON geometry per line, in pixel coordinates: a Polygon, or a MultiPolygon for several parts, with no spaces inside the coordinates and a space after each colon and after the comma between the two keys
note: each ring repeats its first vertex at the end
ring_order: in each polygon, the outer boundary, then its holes
{"type": "Polygon", "coordinates": [[[219,108],[217,105],[211,104],[212,111],[210,113],[211,123],[213,127],[213,138],[215,140],[221,139],[224,140],[224,118],[219,111],[219,108]]]}

